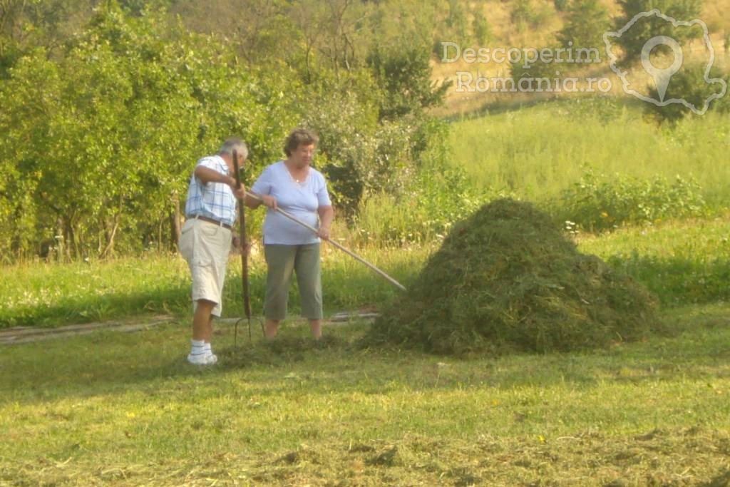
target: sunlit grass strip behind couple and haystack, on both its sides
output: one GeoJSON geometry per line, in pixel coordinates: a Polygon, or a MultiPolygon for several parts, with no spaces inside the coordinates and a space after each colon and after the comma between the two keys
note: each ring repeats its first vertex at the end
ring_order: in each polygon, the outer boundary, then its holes
{"type": "MultiPolygon", "coordinates": [[[[730,299],[730,217],[664,222],[621,229],[600,237],[581,236],[580,250],[595,253],[634,276],[665,306],[730,299]]],[[[408,285],[418,276],[433,247],[358,250],[396,280],[408,285]]],[[[91,264],[22,264],[4,267],[11,278],[0,281],[4,306],[0,328],[58,326],[166,312],[190,312],[190,277],[177,256],[119,259],[91,264]]],[[[264,263],[250,258],[250,294],[254,315],[261,315],[264,263]]],[[[241,267],[228,264],[223,315],[240,317],[241,267]]],[[[362,264],[334,249],[323,252],[326,312],[380,309],[395,287],[362,264]]],[[[299,311],[296,288],[290,312],[299,311]]]]}

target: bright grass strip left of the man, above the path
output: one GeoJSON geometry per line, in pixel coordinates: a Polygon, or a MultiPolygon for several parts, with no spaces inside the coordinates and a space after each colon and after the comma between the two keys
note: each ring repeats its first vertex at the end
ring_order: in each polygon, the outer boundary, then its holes
{"type": "Polygon", "coordinates": [[[181,258],[125,258],[4,266],[0,328],[54,326],[180,309],[189,293],[181,258]]]}

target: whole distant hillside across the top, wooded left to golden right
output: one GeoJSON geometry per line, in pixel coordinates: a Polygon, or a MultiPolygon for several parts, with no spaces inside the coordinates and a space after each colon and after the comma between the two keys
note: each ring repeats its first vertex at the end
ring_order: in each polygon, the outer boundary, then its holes
{"type": "MultiPolygon", "coordinates": [[[[602,20],[609,30],[614,29],[621,16],[619,0],[595,0],[602,10],[602,20]]],[[[587,2],[590,4],[591,2],[587,2]]],[[[666,2],[658,2],[663,5],[666,2]]],[[[118,0],[118,4],[132,15],[164,9],[169,21],[168,32],[194,31],[213,34],[233,45],[242,62],[249,66],[266,63],[285,63],[304,66],[307,73],[318,66],[337,66],[337,69],[357,69],[372,62],[372,53],[380,51],[404,52],[412,47],[431,50],[432,80],[444,83],[452,80],[445,106],[434,110],[435,115],[458,115],[481,108],[518,106],[535,99],[561,96],[555,93],[474,93],[457,91],[458,72],[470,73],[475,78],[504,77],[511,73],[508,62],[467,63],[463,58],[443,62],[441,42],[454,42],[463,49],[475,50],[504,48],[545,47],[556,49],[561,30],[571,21],[572,0],[250,0],[242,10],[236,0],[118,0]],[[245,21],[241,21],[245,18],[245,21]]],[[[697,18],[707,24],[712,45],[715,47],[716,66],[726,70],[728,39],[730,37],[730,0],[703,0],[697,18]]],[[[98,0],[70,2],[45,0],[27,2],[8,0],[0,8],[0,74],[14,62],[18,51],[44,45],[57,51],[70,36],[84,26],[101,5],[98,0]]],[[[583,34],[590,33],[591,22],[583,24],[583,34]]],[[[588,15],[586,15],[588,17],[588,15]]],[[[694,17],[694,16],[693,16],[694,17]]],[[[678,20],[691,20],[678,19],[678,20]]],[[[603,25],[603,23],[602,23],[603,25]]],[[[580,30],[580,29],[579,29],[580,30]]],[[[569,69],[580,78],[607,77],[611,82],[608,93],[623,96],[621,83],[609,69],[599,28],[590,46],[596,47],[601,62],[587,69],[569,69]]],[[[575,47],[578,47],[578,43],[575,47]]],[[[690,49],[701,50],[699,42],[691,42],[690,49]]],[[[685,63],[686,64],[686,63],[685,63]]],[[[554,76],[556,66],[547,66],[539,74],[554,76]]],[[[534,75],[534,72],[529,74],[534,75]]],[[[566,76],[566,70],[561,77],[566,76]]],[[[650,82],[649,78],[641,83],[650,82]]],[[[604,88],[607,88],[605,86],[604,88]]],[[[603,91],[602,91],[603,92],[603,91]]]]}

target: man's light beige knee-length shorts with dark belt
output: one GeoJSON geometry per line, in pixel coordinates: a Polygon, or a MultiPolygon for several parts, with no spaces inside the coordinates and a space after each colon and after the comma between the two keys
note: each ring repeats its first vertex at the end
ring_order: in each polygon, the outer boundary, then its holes
{"type": "Polygon", "coordinates": [[[231,252],[231,231],[220,225],[190,219],[180,234],[180,253],[188,261],[193,276],[193,311],[199,299],[215,303],[212,314],[223,310],[223,283],[231,252]]]}

